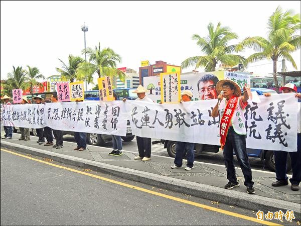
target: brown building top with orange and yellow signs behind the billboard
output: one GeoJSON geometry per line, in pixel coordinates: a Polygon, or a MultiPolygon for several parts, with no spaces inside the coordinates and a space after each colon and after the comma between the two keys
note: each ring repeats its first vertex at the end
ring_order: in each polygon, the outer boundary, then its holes
{"type": "Polygon", "coordinates": [[[155,64],[150,64],[148,60],[141,61],[141,67],[139,67],[139,82],[143,85],[143,77],[157,76],[160,75],[160,73],[176,71],[180,71],[181,73],[181,66],[167,64],[162,60],[156,61],[155,64]]]}

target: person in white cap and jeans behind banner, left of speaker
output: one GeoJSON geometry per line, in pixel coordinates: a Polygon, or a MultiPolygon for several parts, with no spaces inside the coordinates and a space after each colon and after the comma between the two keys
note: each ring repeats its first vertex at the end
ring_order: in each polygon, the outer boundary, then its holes
{"type": "MultiPolygon", "coordinates": [[[[180,103],[191,101],[193,94],[190,90],[185,90],[181,93],[181,101],[180,103]]],[[[178,169],[182,167],[183,158],[185,153],[187,152],[187,164],[185,170],[192,170],[194,168],[194,143],[191,142],[176,142],[176,157],[175,157],[175,165],[171,166],[172,169],[178,169]]]]}

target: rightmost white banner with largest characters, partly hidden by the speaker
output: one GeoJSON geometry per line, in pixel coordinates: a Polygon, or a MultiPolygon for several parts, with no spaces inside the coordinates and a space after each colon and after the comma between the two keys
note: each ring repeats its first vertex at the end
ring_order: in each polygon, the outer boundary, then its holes
{"type": "MultiPolygon", "coordinates": [[[[297,150],[297,99],[293,95],[260,96],[246,107],[247,147],[297,150]]],[[[126,101],[130,104],[132,134],[172,141],[220,145],[219,118],[211,112],[217,100],[181,104],[126,101]]]]}

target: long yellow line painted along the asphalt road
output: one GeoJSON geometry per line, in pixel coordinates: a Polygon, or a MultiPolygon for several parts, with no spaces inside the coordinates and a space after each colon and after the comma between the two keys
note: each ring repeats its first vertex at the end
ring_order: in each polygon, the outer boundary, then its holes
{"type": "Polygon", "coordinates": [[[53,164],[53,163],[50,163],[50,162],[45,162],[43,160],[35,159],[35,158],[25,156],[25,155],[22,155],[22,154],[19,154],[19,153],[16,153],[16,152],[12,152],[12,151],[9,151],[9,150],[3,149],[3,148],[1,148],[1,151],[5,151],[5,152],[10,153],[10,154],[14,154],[14,155],[17,155],[17,156],[20,156],[20,157],[31,159],[31,160],[34,160],[34,161],[37,161],[37,162],[40,162],[40,163],[44,163],[44,164],[47,164],[47,165],[50,165],[50,166],[54,166],[54,167],[57,167],[57,168],[69,170],[69,171],[72,171],[72,172],[75,172],[75,173],[80,173],[80,174],[83,174],[83,175],[86,175],[86,176],[89,176],[89,177],[94,177],[94,178],[104,180],[104,181],[107,181],[107,182],[110,182],[110,183],[113,183],[113,184],[118,184],[118,185],[121,185],[121,186],[124,186],[124,187],[132,188],[132,189],[135,189],[135,190],[138,190],[138,191],[143,191],[143,192],[146,192],[146,193],[149,193],[149,194],[153,194],[153,195],[157,195],[157,196],[160,196],[160,197],[168,198],[168,199],[171,199],[171,200],[174,200],[174,201],[186,203],[186,204],[189,204],[189,205],[194,205],[194,206],[197,206],[197,207],[200,207],[200,208],[203,208],[203,209],[208,209],[208,210],[212,210],[212,211],[215,211],[215,212],[224,213],[226,215],[242,218],[242,219],[245,219],[245,220],[250,220],[250,221],[253,221],[253,222],[260,223],[260,224],[281,225],[281,224],[276,224],[274,222],[270,222],[270,221],[266,221],[266,220],[259,220],[259,219],[256,219],[255,217],[242,215],[242,214],[231,212],[231,211],[228,211],[228,210],[215,208],[215,207],[212,207],[212,206],[209,206],[209,205],[204,205],[204,204],[201,204],[201,203],[198,203],[198,202],[193,202],[193,201],[185,200],[185,199],[182,199],[182,198],[177,198],[177,197],[174,197],[174,196],[171,196],[171,195],[162,194],[160,192],[156,192],[156,191],[148,190],[148,189],[145,189],[145,188],[133,186],[131,184],[122,183],[122,182],[119,182],[119,181],[116,181],[116,180],[112,180],[112,179],[108,179],[108,178],[105,178],[105,177],[97,176],[97,175],[94,175],[94,174],[91,174],[91,173],[82,172],[82,171],[72,169],[72,168],[68,168],[68,167],[65,167],[65,166],[60,166],[60,165],[56,165],[56,164],[53,164]]]}

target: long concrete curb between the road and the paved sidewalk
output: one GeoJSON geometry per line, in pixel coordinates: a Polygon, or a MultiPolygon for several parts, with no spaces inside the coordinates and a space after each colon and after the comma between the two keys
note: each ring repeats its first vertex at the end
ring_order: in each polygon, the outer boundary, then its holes
{"type": "Polygon", "coordinates": [[[1,147],[40,157],[51,158],[57,162],[65,163],[68,165],[90,168],[94,171],[111,174],[113,176],[138,181],[148,185],[157,186],[209,200],[219,201],[229,205],[237,205],[239,207],[251,210],[261,210],[264,212],[275,212],[282,210],[284,213],[286,212],[286,210],[293,210],[294,216],[297,219],[301,218],[300,204],[294,202],[258,196],[255,194],[250,195],[247,193],[242,193],[240,191],[227,190],[207,184],[201,184],[154,173],[147,173],[139,170],[113,166],[106,163],[82,159],[74,156],[45,151],[32,147],[26,147],[19,144],[12,144],[6,141],[1,142],[1,147]]]}

